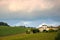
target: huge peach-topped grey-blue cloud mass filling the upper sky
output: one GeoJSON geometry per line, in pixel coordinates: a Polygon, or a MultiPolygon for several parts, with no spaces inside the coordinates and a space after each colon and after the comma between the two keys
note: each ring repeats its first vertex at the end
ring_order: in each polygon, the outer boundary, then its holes
{"type": "Polygon", "coordinates": [[[0,0],[0,19],[60,21],[60,0],[0,0]]]}

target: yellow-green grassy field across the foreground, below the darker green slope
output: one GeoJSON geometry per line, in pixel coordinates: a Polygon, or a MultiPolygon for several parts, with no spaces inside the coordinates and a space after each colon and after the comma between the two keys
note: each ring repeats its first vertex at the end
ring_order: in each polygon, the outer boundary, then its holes
{"type": "Polygon", "coordinates": [[[56,32],[52,33],[35,33],[35,34],[16,34],[0,37],[0,40],[55,40],[56,32]]]}

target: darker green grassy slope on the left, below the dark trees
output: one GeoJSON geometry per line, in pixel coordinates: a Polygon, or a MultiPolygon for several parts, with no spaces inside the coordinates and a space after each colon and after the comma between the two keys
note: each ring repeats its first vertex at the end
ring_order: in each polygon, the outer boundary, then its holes
{"type": "Polygon", "coordinates": [[[23,28],[23,27],[0,26],[0,36],[24,33],[25,31],[26,31],[26,28],[23,28]]]}

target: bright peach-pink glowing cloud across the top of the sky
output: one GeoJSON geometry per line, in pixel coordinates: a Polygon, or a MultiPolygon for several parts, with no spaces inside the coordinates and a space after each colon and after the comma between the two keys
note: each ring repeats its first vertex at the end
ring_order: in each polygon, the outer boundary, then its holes
{"type": "Polygon", "coordinates": [[[1,0],[0,6],[5,5],[10,11],[31,12],[36,8],[40,10],[52,9],[56,3],[49,0],[1,0]]]}

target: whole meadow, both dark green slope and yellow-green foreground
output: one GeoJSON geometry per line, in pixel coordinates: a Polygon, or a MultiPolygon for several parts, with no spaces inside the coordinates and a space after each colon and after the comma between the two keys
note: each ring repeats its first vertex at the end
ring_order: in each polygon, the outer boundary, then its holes
{"type": "Polygon", "coordinates": [[[55,40],[57,32],[26,34],[24,27],[0,27],[0,40],[55,40]]]}

